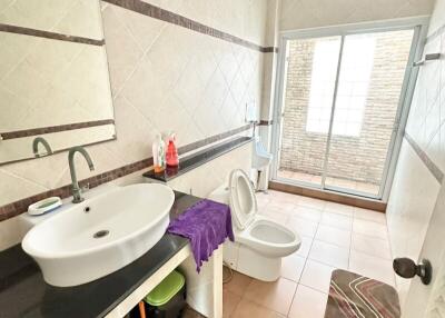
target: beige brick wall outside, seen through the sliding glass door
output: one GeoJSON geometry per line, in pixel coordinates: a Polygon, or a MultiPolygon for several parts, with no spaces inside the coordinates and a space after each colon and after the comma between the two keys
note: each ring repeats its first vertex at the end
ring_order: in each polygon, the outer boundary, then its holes
{"type": "MultiPolygon", "coordinates": [[[[333,136],[328,176],[379,183],[411,41],[412,33],[406,31],[376,36],[362,132],[358,137],[333,136]]],[[[327,135],[306,131],[314,49],[310,39],[289,41],[280,169],[322,175],[327,135]]]]}

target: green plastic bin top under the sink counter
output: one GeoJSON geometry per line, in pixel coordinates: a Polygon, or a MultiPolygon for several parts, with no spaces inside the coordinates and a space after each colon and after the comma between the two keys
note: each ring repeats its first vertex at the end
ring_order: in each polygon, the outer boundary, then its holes
{"type": "Polygon", "coordinates": [[[159,307],[166,305],[184,287],[186,279],[179,271],[171,271],[164,280],[147,295],[148,305],[159,307]]]}

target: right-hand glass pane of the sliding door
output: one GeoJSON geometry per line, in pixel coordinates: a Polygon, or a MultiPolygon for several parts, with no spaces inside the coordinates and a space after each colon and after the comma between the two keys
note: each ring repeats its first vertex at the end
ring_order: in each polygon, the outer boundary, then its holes
{"type": "Polygon", "coordinates": [[[344,38],[325,188],[378,197],[397,131],[414,31],[344,38]]]}

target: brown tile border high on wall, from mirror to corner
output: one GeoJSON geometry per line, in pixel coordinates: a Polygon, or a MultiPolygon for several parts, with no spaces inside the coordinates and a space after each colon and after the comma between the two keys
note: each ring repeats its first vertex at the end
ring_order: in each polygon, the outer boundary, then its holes
{"type": "Polygon", "coordinates": [[[267,52],[275,52],[277,48],[274,47],[261,47],[258,46],[254,42],[244,40],[241,38],[235,37],[233,34],[226,33],[224,31],[214,29],[211,27],[205,26],[202,23],[199,23],[197,21],[194,21],[189,18],[182,17],[180,14],[177,14],[175,12],[165,10],[162,8],[156,7],[154,4],[144,2],[141,0],[102,0],[103,2],[108,2],[115,6],[118,6],[120,8],[138,12],[140,14],[158,19],[165,22],[169,22],[202,34],[207,34],[217,39],[225,40],[227,42],[231,42],[235,44],[239,44],[253,50],[257,50],[264,53],[267,52]]]}

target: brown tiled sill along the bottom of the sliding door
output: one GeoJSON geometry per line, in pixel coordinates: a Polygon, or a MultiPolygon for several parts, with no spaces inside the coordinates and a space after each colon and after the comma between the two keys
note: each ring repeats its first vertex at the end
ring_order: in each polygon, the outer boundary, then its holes
{"type": "Polygon", "coordinates": [[[298,196],[310,197],[310,198],[315,198],[315,199],[322,199],[322,200],[332,201],[332,202],[336,202],[336,203],[353,206],[353,207],[357,207],[357,208],[375,210],[375,211],[383,212],[383,213],[386,211],[386,203],[378,201],[378,200],[372,200],[372,199],[359,198],[359,197],[349,197],[349,196],[345,196],[342,193],[323,191],[323,190],[318,190],[318,189],[304,188],[304,187],[298,187],[298,186],[287,185],[287,183],[276,182],[276,181],[269,181],[269,189],[281,191],[281,192],[287,192],[287,193],[293,193],[293,195],[298,195],[298,196]]]}

